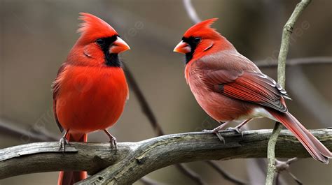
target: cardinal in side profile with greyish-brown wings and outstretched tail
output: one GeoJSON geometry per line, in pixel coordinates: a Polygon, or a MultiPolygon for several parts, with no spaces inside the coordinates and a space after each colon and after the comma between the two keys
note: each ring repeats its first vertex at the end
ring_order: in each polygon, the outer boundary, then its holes
{"type": "Polygon", "coordinates": [[[186,80],[200,106],[213,119],[224,122],[209,132],[223,140],[218,131],[229,121],[242,120],[233,128],[240,132],[251,119],[268,117],[284,124],[313,158],[328,163],[331,151],[288,112],[286,91],[210,27],[216,20],[195,24],[174,49],[186,54],[186,80]]]}

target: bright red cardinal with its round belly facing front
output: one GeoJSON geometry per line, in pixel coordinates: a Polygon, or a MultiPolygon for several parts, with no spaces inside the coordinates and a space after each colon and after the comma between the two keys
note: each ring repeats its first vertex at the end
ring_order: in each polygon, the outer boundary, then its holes
{"type": "MultiPolygon", "coordinates": [[[[107,130],[116,123],[128,98],[128,86],[120,52],[130,50],[118,33],[104,20],[81,13],[81,37],[59,69],[53,84],[53,110],[60,131],[61,149],[68,141],[86,142],[87,133],[107,130]]],[[[60,172],[58,184],[73,184],[86,172],[60,172]]]]}

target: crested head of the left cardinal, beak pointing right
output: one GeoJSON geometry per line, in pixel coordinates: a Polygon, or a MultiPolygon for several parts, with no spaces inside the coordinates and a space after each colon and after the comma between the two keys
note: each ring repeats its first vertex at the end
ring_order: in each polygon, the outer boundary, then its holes
{"type": "Polygon", "coordinates": [[[86,65],[120,66],[118,54],[130,50],[129,45],[104,20],[90,13],[80,14],[79,19],[83,20],[83,23],[80,24],[78,32],[81,37],[69,54],[69,61],[86,65]]]}

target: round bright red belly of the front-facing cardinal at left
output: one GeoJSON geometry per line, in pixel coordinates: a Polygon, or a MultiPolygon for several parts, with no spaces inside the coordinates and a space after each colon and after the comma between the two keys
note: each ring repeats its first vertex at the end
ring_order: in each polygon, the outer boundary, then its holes
{"type": "Polygon", "coordinates": [[[89,133],[116,123],[127,100],[127,84],[121,71],[98,71],[87,76],[69,75],[57,98],[57,117],[65,130],[89,133]]]}

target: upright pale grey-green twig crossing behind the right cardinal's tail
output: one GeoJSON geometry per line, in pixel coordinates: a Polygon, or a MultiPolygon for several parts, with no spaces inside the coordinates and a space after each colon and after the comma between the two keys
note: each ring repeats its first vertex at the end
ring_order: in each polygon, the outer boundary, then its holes
{"type": "MultiPolygon", "coordinates": [[[[280,46],[280,52],[278,57],[278,83],[284,87],[286,79],[286,57],[289,50],[289,43],[291,38],[291,32],[293,31],[294,24],[298,17],[303,12],[305,7],[310,3],[311,0],[302,0],[296,5],[291,17],[286,22],[284,30],[282,31],[282,44],[280,46]]],[[[275,177],[275,145],[277,143],[277,138],[282,130],[282,124],[276,123],[275,128],[272,131],[272,135],[268,142],[268,172],[266,175],[266,185],[272,185],[273,179],[275,177]]]]}

